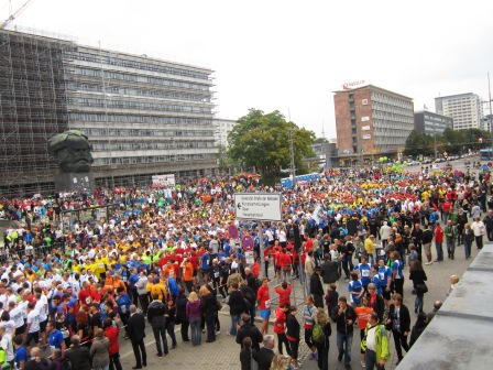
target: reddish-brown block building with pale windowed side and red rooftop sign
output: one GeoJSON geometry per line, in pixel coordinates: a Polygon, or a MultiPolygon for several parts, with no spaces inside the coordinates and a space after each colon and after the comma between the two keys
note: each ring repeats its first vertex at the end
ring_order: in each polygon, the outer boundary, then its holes
{"type": "Polygon", "coordinates": [[[414,129],[412,98],[368,85],[336,91],[333,101],[341,162],[396,156],[404,150],[414,129]]]}

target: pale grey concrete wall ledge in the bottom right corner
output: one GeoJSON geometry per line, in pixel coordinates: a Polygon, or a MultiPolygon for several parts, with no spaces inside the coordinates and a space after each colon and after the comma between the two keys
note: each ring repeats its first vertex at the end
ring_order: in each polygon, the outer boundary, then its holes
{"type": "Polygon", "coordinates": [[[397,369],[493,369],[492,278],[493,243],[489,243],[397,369]]]}

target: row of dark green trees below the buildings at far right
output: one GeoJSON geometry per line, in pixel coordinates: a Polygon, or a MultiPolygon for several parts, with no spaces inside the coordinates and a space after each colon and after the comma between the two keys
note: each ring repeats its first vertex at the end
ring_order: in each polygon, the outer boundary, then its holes
{"type": "Polygon", "coordinates": [[[443,133],[420,133],[413,130],[406,140],[405,155],[424,156],[435,155],[435,142],[438,154],[463,154],[469,150],[478,150],[491,145],[491,133],[479,129],[453,131],[448,128],[443,133]]]}

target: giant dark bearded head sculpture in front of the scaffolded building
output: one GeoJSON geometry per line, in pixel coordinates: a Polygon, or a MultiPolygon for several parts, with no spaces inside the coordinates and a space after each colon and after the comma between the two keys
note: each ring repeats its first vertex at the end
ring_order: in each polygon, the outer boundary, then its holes
{"type": "Polygon", "coordinates": [[[50,154],[58,160],[64,173],[89,172],[92,164],[88,138],[77,130],[58,133],[48,140],[50,154]]]}

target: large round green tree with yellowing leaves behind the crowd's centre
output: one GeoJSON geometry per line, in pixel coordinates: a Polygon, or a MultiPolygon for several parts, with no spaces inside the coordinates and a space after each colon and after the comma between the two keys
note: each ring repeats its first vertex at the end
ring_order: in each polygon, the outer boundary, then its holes
{"type": "Polygon", "coordinates": [[[293,127],[293,149],[296,167],[302,159],[313,155],[315,133],[286,121],[277,110],[264,113],[250,109],[228,134],[229,156],[244,167],[255,167],[262,175],[281,175],[289,167],[289,126],[293,127]]]}

